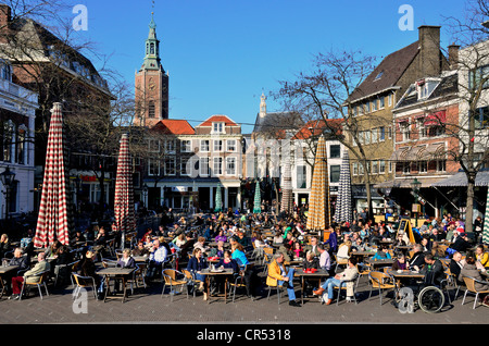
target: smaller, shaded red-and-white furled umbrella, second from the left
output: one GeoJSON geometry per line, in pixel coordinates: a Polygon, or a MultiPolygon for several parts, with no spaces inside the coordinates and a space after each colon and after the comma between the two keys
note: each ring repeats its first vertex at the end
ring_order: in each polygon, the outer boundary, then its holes
{"type": "Polygon", "coordinates": [[[124,248],[126,233],[136,230],[134,207],[133,164],[129,153],[129,137],[123,134],[117,159],[115,176],[114,223],[112,231],[121,234],[121,246],[124,248]]]}

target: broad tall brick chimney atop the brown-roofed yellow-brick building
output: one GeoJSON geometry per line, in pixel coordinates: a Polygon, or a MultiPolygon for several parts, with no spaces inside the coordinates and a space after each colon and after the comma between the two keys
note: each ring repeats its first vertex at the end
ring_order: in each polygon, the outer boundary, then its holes
{"type": "Polygon", "coordinates": [[[422,25],[419,35],[419,73],[421,77],[441,74],[440,26],[422,25]]]}

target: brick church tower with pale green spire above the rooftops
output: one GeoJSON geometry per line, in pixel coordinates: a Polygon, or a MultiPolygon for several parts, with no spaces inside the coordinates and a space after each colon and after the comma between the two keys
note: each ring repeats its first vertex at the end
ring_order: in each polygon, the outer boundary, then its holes
{"type": "Polygon", "coordinates": [[[168,74],[163,70],[160,58],[160,40],[156,38],[154,13],[151,13],[149,35],[145,46],[145,60],[136,72],[136,118],[137,126],[153,126],[160,120],[168,119],[168,74]]]}

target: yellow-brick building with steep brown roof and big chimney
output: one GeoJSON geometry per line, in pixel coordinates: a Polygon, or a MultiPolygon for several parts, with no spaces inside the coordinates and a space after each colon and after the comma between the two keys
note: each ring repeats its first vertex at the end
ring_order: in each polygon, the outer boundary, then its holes
{"type": "MultiPolygon", "coordinates": [[[[426,77],[438,77],[449,70],[449,62],[440,49],[440,27],[418,27],[418,40],[388,54],[350,95],[348,102],[356,118],[359,140],[368,158],[367,165],[352,161],[353,198],[356,207],[365,208],[366,193],[364,170],[368,172],[374,212],[384,211],[384,198],[373,187],[375,184],[393,181],[394,162],[390,158],[394,150],[397,128],[393,124],[393,108],[413,82],[426,77]],[[358,190],[358,191],[356,191],[358,190]]],[[[354,145],[351,139],[352,145],[354,145]]]]}

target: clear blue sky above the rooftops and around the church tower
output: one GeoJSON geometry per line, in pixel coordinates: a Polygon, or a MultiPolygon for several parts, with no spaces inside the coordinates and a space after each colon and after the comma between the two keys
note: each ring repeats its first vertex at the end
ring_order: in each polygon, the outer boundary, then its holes
{"type": "MultiPolygon", "coordinates": [[[[250,133],[262,91],[293,81],[327,50],[360,50],[379,59],[417,40],[419,25],[461,16],[462,0],[74,0],[88,9],[80,39],[96,44],[130,84],[142,63],[151,12],[163,67],[170,73],[170,118],[192,126],[226,114],[250,133]],[[402,4],[414,10],[414,30],[401,30],[402,4]]],[[[76,14],[68,13],[75,17],[76,14]]],[[[101,64],[93,59],[96,66],[101,64]]],[[[271,98],[268,111],[279,106],[271,98]]]]}

